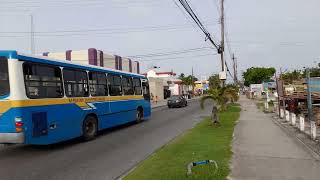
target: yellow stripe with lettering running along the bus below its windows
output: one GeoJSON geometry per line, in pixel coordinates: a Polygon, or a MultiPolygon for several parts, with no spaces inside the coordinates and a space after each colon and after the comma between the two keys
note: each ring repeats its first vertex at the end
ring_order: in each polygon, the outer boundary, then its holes
{"type": "Polygon", "coordinates": [[[15,101],[0,101],[0,114],[7,112],[11,108],[32,107],[32,106],[49,106],[60,104],[76,104],[79,107],[90,106],[87,103],[108,102],[123,100],[139,100],[143,96],[102,96],[102,97],[76,97],[76,98],[55,98],[55,99],[28,99],[15,101]]]}

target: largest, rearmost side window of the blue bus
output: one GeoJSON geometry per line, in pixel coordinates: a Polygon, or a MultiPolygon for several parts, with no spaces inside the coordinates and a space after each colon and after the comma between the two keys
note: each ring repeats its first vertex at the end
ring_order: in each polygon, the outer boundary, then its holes
{"type": "Polygon", "coordinates": [[[24,63],[23,74],[26,93],[29,98],[63,97],[60,67],[24,63]]]}

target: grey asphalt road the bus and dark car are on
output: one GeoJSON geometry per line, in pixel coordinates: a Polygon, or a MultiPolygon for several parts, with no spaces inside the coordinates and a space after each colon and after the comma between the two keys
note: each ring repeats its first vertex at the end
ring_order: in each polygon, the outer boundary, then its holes
{"type": "Polygon", "coordinates": [[[118,179],[209,112],[194,101],[185,108],[156,108],[149,121],[106,130],[90,142],[0,146],[0,179],[118,179]]]}

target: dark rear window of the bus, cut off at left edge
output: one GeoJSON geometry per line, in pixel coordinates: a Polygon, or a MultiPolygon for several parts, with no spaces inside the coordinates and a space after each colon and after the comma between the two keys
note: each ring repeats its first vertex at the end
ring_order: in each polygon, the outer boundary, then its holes
{"type": "Polygon", "coordinates": [[[8,59],[0,57],[0,96],[6,96],[10,93],[8,59]]]}

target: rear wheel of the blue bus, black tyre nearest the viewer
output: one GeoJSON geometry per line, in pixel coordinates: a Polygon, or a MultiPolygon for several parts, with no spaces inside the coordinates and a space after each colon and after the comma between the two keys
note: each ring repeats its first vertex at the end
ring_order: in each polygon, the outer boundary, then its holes
{"type": "Polygon", "coordinates": [[[83,139],[90,141],[97,136],[98,121],[93,116],[88,116],[83,122],[83,139]]]}

